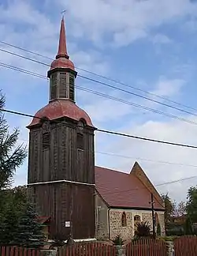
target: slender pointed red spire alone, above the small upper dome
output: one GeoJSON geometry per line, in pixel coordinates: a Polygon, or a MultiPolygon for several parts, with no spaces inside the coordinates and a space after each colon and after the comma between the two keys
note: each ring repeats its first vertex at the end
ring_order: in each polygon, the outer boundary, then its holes
{"type": "Polygon", "coordinates": [[[65,40],[65,21],[64,17],[61,19],[61,28],[60,28],[60,38],[59,38],[59,47],[58,47],[58,55],[56,58],[69,58],[66,48],[66,40],[65,40]]]}

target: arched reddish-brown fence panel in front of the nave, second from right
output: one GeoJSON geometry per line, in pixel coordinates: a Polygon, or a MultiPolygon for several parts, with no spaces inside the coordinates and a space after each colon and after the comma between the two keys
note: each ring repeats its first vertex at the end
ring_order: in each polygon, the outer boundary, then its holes
{"type": "Polygon", "coordinates": [[[166,256],[166,243],[162,240],[139,239],[128,243],[126,256],[166,256]]]}

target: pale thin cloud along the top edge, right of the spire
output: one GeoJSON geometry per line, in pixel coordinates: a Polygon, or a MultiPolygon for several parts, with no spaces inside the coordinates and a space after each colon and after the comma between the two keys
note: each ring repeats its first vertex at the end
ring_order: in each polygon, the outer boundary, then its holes
{"type": "Polygon", "coordinates": [[[196,12],[195,4],[189,0],[162,0],[159,4],[157,0],[59,0],[59,3],[69,10],[73,29],[80,31],[77,36],[88,36],[95,44],[102,38],[106,44],[105,36],[111,33],[112,43],[119,46],[146,37],[160,24],[196,12]]]}

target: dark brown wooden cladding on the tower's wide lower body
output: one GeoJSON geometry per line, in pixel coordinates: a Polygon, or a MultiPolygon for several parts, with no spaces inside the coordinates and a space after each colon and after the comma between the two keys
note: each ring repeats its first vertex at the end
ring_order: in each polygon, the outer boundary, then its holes
{"type": "Polygon", "coordinates": [[[83,150],[77,149],[77,122],[71,119],[50,122],[49,133],[50,146],[46,148],[43,126],[32,126],[30,130],[29,198],[33,199],[35,209],[41,216],[51,217],[51,235],[58,232],[65,239],[69,234],[65,221],[70,220],[72,198],[73,238],[94,238],[94,129],[85,126],[80,131],[84,138],[83,150]]]}

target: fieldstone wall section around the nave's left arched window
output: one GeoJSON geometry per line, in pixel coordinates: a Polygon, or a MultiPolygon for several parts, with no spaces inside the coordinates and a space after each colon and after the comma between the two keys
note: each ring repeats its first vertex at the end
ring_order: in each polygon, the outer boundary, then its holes
{"type": "Polygon", "coordinates": [[[132,239],[132,213],[124,210],[110,210],[110,239],[114,239],[116,235],[121,235],[122,239],[132,239]],[[126,214],[127,225],[122,227],[121,216],[126,214]]]}

